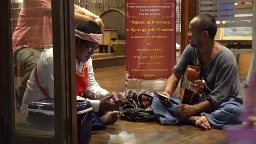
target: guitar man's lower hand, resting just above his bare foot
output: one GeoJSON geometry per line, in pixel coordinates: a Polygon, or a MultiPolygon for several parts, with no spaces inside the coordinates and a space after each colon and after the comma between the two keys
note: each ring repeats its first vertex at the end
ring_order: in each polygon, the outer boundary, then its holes
{"type": "Polygon", "coordinates": [[[182,118],[188,118],[190,116],[193,116],[197,113],[195,105],[178,105],[175,113],[182,117],[182,118]]]}

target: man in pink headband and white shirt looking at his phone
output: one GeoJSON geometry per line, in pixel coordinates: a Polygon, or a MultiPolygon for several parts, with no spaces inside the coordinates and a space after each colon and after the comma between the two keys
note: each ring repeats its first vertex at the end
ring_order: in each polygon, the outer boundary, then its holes
{"type": "MultiPolygon", "coordinates": [[[[94,78],[91,55],[98,50],[102,39],[101,28],[94,21],[83,21],[75,27],[75,58],[77,99],[89,100],[92,105],[92,129],[105,124],[113,124],[119,118],[118,107],[123,103],[113,103],[114,97],[125,98],[123,94],[109,93],[101,88],[94,78]],[[89,99],[88,99],[89,98],[89,99]],[[108,112],[107,112],[108,111],[108,112]],[[102,112],[102,114],[100,114],[102,112]]],[[[27,106],[32,101],[46,97],[54,98],[53,47],[44,49],[30,80],[22,100],[21,112],[26,123],[30,123],[27,106]]],[[[34,121],[34,120],[33,120],[34,121]]]]}

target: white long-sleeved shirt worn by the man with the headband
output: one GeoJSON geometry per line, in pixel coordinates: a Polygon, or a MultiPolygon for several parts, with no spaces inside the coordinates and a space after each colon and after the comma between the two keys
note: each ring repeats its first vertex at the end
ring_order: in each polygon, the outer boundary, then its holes
{"type": "MultiPolygon", "coordinates": [[[[83,63],[76,63],[76,71],[82,74],[83,63]]],[[[101,88],[94,77],[94,71],[92,68],[91,58],[88,62],[85,63],[88,67],[88,87],[85,89],[86,97],[89,97],[94,100],[86,99],[90,101],[92,105],[92,111],[97,112],[100,106],[100,99],[104,97],[108,91],[101,88]]],[[[51,98],[54,98],[54,67],[53,67],[53,48],[44,49],[38,62],[37,62],[37,77],[40,83],[40,86],[43,87],[51,98]]],[[[37,86],[36,79],[34,78],[34,69],[31,73],[30,80],[27,81],[27,89],[22,100],[21,112],[24,120],[27,118],[27,106],[32,101],[45,98],[43,93],[37,86]]]]}

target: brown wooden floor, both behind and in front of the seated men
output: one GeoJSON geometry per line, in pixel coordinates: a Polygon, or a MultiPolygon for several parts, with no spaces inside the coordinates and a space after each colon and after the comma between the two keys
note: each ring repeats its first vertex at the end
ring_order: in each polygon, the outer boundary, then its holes
{"type": "MultiPolygon", "coordinates": [[[[124,92],[130,88],[162,91],[165,88],[165,81],[129,81],[126,88],[124,65],[94,71],[97,82],[109,92],[124,92]]],[[[92,131],[90,143],[228,143],[228,140],[224,130],[119,120],[105,130],[92,131]]]]}

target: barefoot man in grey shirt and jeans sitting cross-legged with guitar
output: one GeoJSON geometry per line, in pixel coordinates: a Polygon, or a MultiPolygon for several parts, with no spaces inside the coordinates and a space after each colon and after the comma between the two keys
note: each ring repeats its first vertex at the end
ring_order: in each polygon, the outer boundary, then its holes
{"type": "Polygon", "coordinates": [[[216,20],[210,14],[197,15],[190,21],[190,44],[173,67],[165,91],[160,92],[178,105],[163,97],[155,97],[152,103],[155,116],[162,125],[190,122],[207,130],[222,129],[225,125],[239,123],[238,118],[243,112],[243,91],[238,79],[238,66],[232,52],[214,41],[216,32],[216,20]],[[188,65],[200,67],[199,79],[205,83],[201,94],[195,101],[191,101],[195,97],[194,90],[199,85],[184,79],[187,81],[185,86],[192,86],[189,89],[193,91],[189,103],[184,104],[183,100],[173,94],[179,81],[183,81],[182,76],[184,77],[188,65]]]}

